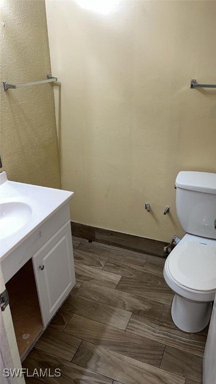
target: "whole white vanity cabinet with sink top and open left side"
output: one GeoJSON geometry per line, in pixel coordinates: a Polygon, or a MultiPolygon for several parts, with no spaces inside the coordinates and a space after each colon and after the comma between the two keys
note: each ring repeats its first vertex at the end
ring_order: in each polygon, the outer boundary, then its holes
{"type": "Polygon", "coordinates": [[[75,284],[69,200],[73,192],[0,172],[0,269],[20,359],[75,284]],[[23,219],[24,218],[24,219],[23,219]]]}

